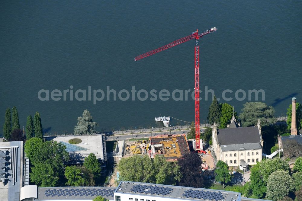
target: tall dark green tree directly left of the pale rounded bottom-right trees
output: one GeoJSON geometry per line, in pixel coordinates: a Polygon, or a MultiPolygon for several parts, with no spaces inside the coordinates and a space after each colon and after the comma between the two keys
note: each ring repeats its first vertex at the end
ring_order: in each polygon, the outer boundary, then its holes
{"type": "Polygon", "coordinates": [[[250,180],[253,195],[257,198],[263,198],[266,192],[266,186],[262,179],[259,163],[257,163],[251,168],[250,180]]]}

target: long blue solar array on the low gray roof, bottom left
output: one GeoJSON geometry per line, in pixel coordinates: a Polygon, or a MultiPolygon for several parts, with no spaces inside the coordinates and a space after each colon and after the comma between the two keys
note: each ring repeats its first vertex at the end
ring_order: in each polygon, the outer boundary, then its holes
{"type": "Polygon", "coordinates": [[[115,189],[95,189],[95,188],[83,188],[83,189],[48,189],[45,191],[45,196],[107,196],[113,197],[115,189]]]}

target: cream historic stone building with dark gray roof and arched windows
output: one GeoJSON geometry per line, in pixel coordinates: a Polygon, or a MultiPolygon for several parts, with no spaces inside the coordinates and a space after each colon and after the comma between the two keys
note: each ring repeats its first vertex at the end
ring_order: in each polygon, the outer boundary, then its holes
{"type": "Polygon", "coordinates": [[[228,166],[238,166],[246,172],[248,165],[254,165],[262,159],[263,140],[260,120],[256,126],[240,127],[234,117],[226,129],[212,127],[212,142],[217,160],[228,166]]]}

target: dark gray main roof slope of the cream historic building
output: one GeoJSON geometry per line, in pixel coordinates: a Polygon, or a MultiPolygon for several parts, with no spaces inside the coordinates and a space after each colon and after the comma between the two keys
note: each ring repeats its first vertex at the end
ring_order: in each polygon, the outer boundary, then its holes
{"type": "Polygon", "coordinates": [[[217,131],[218,142],[221,145],[244,143],[259,143],[261,141],[258,127],[226,128],[217,131]]]}

